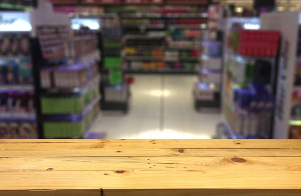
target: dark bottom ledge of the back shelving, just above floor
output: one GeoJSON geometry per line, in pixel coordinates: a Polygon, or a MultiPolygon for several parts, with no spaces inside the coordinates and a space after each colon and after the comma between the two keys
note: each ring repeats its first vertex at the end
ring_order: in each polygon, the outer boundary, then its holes
{"type": "Polygon", "coordinates": [[[159,70],[143,70],[143,69],[125,69],[126,74],[197,74],[197,71],[187,69],[159,69],[159,70]]]}

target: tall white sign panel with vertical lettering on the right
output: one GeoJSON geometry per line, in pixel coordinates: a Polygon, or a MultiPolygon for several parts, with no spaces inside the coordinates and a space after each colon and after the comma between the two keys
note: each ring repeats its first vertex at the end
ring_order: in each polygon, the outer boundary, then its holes
{"type": "Polygon", "coordinates": [[[274,139],[286,139],[288,137],[291,92],[296,64],[298,22],[299,13],[297,12],[280,12],[261,15],[261,29],[275,30],[281,33],[281,51],[274,112],[274,139]]]}

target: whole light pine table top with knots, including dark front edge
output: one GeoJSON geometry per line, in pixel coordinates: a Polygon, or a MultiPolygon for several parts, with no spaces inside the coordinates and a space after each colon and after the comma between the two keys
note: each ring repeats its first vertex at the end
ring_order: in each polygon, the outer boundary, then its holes
{"type": "Polygon", "coordinates": [[[301,195],[301,140],[0,140],[0,190],[301,195]]]}

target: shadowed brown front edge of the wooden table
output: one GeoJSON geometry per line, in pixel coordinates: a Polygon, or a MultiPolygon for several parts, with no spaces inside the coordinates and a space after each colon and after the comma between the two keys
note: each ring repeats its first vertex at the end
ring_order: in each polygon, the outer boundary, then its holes
{"type": "MultiPolygon", "coordinates": [[[[1,196],[101,196],[101,190],[0,190],[1,196]]],[[[286,189],[122,189],[102,190],[104,196],[299,196],[300,190],[286,189]]]]}

